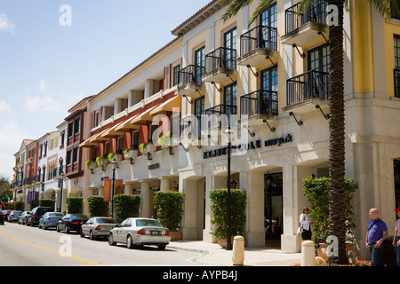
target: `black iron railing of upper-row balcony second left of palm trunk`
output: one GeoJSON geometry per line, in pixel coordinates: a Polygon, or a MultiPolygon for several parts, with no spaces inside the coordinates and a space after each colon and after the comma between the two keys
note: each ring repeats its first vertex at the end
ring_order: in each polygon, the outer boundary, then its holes
{"type": "Polygon", "coordinates": [[[257,48],[264,48],[271,51],[277,50],[276,28],[257,26],[240,36],[240,56],[244,56],[257,48]]]}

